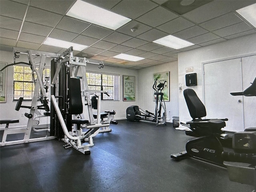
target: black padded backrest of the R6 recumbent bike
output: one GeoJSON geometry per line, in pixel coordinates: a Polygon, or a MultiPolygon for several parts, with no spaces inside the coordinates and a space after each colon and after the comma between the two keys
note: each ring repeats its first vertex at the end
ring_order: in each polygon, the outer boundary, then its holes
{"type": "Polygon", "coordinates": [[[205,117],[205,106],[196,95],[196,92],[193,89],[185,89],[183,94],[188,106],[190,116],[193,119],[205,117]]]}

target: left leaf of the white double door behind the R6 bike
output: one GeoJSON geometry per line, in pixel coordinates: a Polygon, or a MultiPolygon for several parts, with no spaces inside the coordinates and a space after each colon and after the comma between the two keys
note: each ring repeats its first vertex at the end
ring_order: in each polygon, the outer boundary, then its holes
{"type": "Polygon", "coordinates": [[[228,118],[223,130],[244,130],[241,59],[230,59],[204,64],[204,102],[206,118],[228,118]]]}

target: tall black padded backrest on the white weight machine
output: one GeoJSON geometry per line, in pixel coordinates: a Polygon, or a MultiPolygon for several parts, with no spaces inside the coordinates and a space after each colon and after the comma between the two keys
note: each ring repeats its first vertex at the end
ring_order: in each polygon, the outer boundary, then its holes
{"type": "Polygon", "coordinates": [[[80,79],[69,79],[69,114],[81,114],[83,113],[83,103],[81,96],[80,79]]]}

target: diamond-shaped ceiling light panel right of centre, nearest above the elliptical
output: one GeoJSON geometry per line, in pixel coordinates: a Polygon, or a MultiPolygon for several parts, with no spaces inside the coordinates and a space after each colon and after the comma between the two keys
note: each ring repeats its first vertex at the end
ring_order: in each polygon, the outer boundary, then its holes
{"type": "Polygon", "coordinates": [[[165,36],[153,42],[174,49],[181,49],[184,47],[194,45],[193,43],[190,43],[178,37],[174,37],[172,35],[165,36]]]}

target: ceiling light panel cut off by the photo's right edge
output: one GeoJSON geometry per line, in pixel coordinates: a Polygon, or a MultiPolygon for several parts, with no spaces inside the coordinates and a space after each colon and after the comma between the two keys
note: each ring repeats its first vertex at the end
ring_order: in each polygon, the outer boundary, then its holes
{"type": "Polygon", "coordinates": [[[256,27],[256,4],[244,7],[236,10],[243,18],[245,18],[250,24],[256,27]]]}

